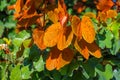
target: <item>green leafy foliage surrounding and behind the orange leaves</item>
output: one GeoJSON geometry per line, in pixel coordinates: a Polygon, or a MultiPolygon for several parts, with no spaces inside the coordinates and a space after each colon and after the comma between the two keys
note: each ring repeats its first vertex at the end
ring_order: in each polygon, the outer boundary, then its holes
{"type": "MultiPolygon", "coordinates": [[[[0,0],[0,44],[11,41],[10,54],[0,50],[0,80],[119,80],[120,79],[120,14],[115,20],[108,19],[106,23],[98,23],[92,19],[96,31],[96,42],[102,49],[100,59],[90,57],[85,61],[77,52],[77,59],[59,71],[48,71],[45,68],[45,59],[49,48],[40,51],[36,45],[29,47],[32,32],[23,30],[15,32],[16,21],[13,20],[14,11],[7,10],[7,6],[16,0],[0,0]],[[110,30],[112,29],[112,31],[110,30]],[[6,39],[8,41],[6,41],[6,39]]],[[[76,13],[72,7],[74,2],[65,0],[68,13],[81,15],[94,12],[95,8],[87,7],[82,13],[76,13]]],[[[88,3],[92,2],[89,0],[88,3]]]]}

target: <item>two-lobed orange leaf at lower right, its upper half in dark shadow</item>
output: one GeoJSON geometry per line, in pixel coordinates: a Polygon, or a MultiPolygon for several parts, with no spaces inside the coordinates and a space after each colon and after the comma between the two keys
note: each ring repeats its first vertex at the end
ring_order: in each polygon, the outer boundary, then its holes
{"type": "Polygon", "coordinates": [[[96,45],[95,42],[87,43],[84,39],[81,39],[78,42],[76,39],[74,46],[85,59],[88,59],[90,54],[96,58],[100,58],[102,56],[100,48],[96,45]]]}

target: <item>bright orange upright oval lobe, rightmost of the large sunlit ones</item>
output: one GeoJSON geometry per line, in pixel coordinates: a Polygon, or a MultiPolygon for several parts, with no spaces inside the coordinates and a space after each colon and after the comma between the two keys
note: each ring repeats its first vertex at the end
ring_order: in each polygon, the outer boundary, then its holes
{"type": "Polygon", "coordinates": [[[83,16],[81,21],[81,30],[84,40],[92,43],[95,40],[95,30],[89,17],[83,16]]]}

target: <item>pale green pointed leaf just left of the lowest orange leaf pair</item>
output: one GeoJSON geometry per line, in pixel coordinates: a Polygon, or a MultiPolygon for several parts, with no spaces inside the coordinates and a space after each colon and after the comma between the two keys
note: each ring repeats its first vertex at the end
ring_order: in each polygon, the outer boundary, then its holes
{"type": "Polygon", "coordinates": [[[42,56],[40,56],[40,59],[37,62],[33,62],[35,69],[39,72],[44,70],[44,64],[42,56]]]}

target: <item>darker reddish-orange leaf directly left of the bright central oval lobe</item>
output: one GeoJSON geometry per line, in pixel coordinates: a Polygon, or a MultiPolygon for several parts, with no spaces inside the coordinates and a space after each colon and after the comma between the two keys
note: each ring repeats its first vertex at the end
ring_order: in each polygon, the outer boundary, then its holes
{"type": "Polygon", "coordinates": [[[39,30],[38,28],[33,30],[33,40],[34,43],[41,49],[44,50],[46,48],[46,46],[44,45],[43,42],[43,36],[44,36],[44,31],[43,30],[39,30]]]}

